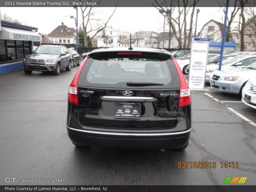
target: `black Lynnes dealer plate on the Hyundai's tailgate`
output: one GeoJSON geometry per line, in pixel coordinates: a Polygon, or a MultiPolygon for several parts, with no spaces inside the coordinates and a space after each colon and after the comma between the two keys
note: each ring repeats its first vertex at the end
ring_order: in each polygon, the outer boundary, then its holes
{"type": "Polygon", "coordinates": [[[140,117],[140,103],[115,103],[115,116],[140,117]]]}

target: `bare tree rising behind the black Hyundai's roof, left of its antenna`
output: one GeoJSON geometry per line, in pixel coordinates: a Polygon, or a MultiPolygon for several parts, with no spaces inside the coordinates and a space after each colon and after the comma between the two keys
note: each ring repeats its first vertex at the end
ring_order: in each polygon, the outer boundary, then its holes
{"type": "MultiPolygon", "coordinates": [[[[96,2],[97,5],[100,4],[102,0],[96,2]]],[[[80,0],[81,2],[81,0],[80,0]]],[[[91,5],[88,5],[86,7],[82,7],[81,5],[81,11],[82,11],[82,18],[83,18],[83,30],[84,30],[84,47],[88,47],[88,40],[87,40],[87,36],[89,33],[94,32],[94,35],[91,35],[89,38],[89,41],[91,41],[100,31],[102,31],[105,27],[107,27],[108,21],[111,19],[111,17],[113,16],[113,14],[116,11],[116,7],[114,8],[114,11],[112,12],[112,14],[108,17],[107,21],[105,22],[105,24],[100,25],[99,27],[93,28],[92,27],[92,23],[91,21],[100,21],[100,19],[93,19],[92,16],[95,14],[95,12],[93,12],[93,8],[94,6],[92,5],[92,0],[88,1],[89,4],[91,3],[91,5]]],[[[83,3],[81,3],[83,4],[83,3]]],[[[118,4],[118,0],[116,2],[116,6],[118,4]]]]}

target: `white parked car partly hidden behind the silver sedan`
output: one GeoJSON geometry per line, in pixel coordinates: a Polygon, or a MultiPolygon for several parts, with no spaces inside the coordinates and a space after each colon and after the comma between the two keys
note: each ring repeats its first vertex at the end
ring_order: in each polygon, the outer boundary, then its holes
{"type": "MultiPolygon", "coordinates": [[[[227,60],[222,61],[221,70],[227,70],[232,68],[243,68],[247,65],[250,65],[254,61],[256,61],[256,55],[254,56],[239,55],[236,57],[231,57],[227,60]]],[[[205,82],[210,83],[213,74],[217,70],[219,70],[219,63],[207,65],[205,82]]]]}

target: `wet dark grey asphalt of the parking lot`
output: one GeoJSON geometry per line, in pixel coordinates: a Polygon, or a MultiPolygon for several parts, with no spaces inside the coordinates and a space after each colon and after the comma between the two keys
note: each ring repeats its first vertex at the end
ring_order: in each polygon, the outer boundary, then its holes
{"type": "Polygon", "coordinates": [[[0,185],[35,184],[6,183],[7,177],[62,180],[39,185],[221,185],[226,177],[247,177],[244,185],[255,184],[256,110],[209,86],[192,91],[192,134],[183,152],[76,148],[66,116],[77,69],[61,70],[60,76],[22,70],[0,75],[0,185]],[[189,162],[188,168],[178,168],[179,161],[189,162]],[[190,168],[190,162],[216,162],[216,168],[190,168]],[[221,168],[221,162],[228,167],[221,168]]]}

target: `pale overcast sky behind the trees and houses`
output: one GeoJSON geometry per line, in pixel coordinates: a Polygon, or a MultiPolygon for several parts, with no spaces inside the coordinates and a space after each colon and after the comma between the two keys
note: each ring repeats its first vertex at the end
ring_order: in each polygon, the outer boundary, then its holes
{"type": "MultiPolygon", "coordinates": [[[[196,7],[199,8],[197,20],[197,32],[201,30],[203,25],[213,19],[222,22],[224,13],[219,11],[218,7],[196,7]]],[[[78,9],[78,25],[82,24],[82,13],[78,9]]],[[[95,8],[94,18],[101,18],[104,23],[109,15],[111,15],[114,7],[95,8]]],[[[1,7],[1,15],[7,13],[12,19],[26,23],[29,26],[38,28],[39,33],[49,34],[61,22],[64,22],[68,27],[75,28],[74,19],[70,19],[70,15],[76,16],[76,10],[71,7],[1,7]]],[[[190,17],[190,14],[188,14],[190,17]]],[[[238,20],[238,16],[237,16],[238,20]]],[[[188,27],[189,28],[188,18],[188,27]]],[[[196,11],[194,14],[195,30],[196,11]]],[[[95,23],[96,25],[96,23],[95,23]]],[[[108,23],[108,26],[127,32],[134,33],[136,31],[155,31],[163,32],[164,17],[154,7],[118,7],[113,17],[108,23]]],[[[235,24],[234,24],[235,25],[235,24]]],[[[167,25],[166,25],[167,26],[167,25]]],[[[165,28],[165,31],[168,31],[165,28]]]]}

